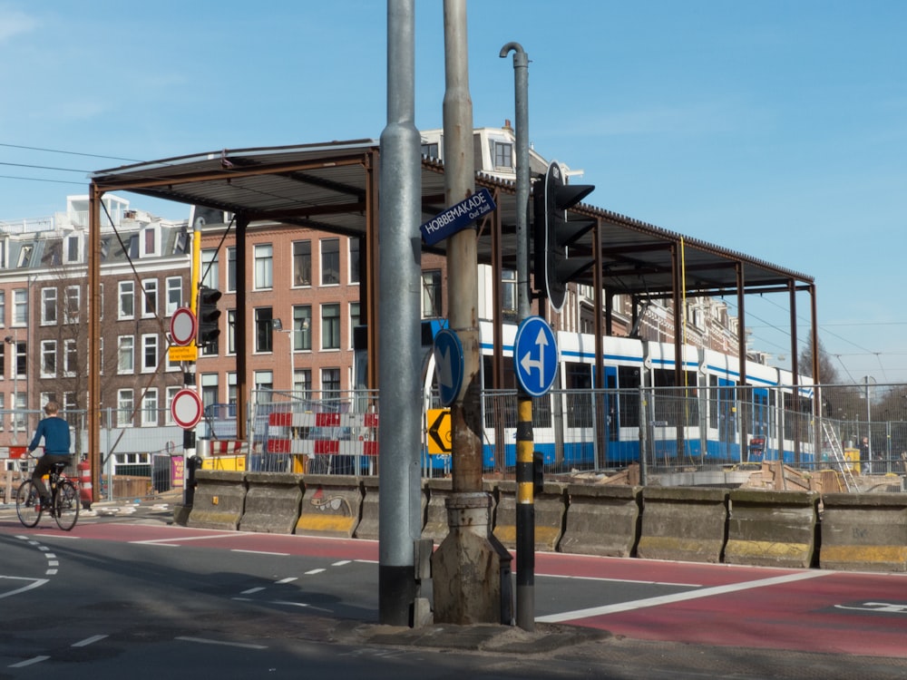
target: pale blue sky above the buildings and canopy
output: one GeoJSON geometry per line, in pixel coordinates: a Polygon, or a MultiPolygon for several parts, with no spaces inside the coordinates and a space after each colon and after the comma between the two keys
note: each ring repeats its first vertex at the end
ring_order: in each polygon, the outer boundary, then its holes
{"type": "MultiPolygon", "coordinates": [[[[443,4],[415,5],[427,130],[443,4]]],[[[585,171],[588,202],[814,277],[841,378],[907,382],[907,3],[473,0],[468,17],[476,127],[513,120],[498,53],[519,42],[532,144],[585,171]]],[[[0,0],[0,220],[62,210],[128,160],[377,139],[385,37],[384,0],[0,0]]],[[[787,302],[746,300],[781,365],[787,302]]]]}

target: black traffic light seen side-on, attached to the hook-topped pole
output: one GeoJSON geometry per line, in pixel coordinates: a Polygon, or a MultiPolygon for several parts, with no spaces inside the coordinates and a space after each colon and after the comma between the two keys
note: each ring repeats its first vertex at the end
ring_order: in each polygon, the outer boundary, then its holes
{"type": "Polygon", "coordinates": [[[535,212],[535,282],[551,306],[561,311],[567,283],[590,268],[592,257],[570,257],[569,248],[595,226],[594,219],[567,219],[567,210],[586,198],[591,184],[565,184],[561,164],[554,160],[532,186],[535,212]]]}

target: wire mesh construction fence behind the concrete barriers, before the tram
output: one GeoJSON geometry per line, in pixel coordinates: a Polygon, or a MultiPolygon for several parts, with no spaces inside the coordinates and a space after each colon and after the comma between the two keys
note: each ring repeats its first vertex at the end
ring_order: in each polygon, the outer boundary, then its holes
{"type": "MultiPolygon", "coordinates": [[[[249,469],[378,471],[377,393],[319,396],[256,394],[249,420],[249,469]],[[369,415],[374,423],[366,423],[369,415]]],[[[482,400],[483,468],[512,473],[517,393],[485,392],[482,400]]],[[[436,404],[433,397],[413,406],[424,413],[420,455],[426,477],[448,474],[452,467],[451,452],[444,450],[449,418],[445,430],[444,411],[434,409],[436,404]]],[[[534,399],[532,409],[533,447],[549,473],[613,471],[634,463],[653,473],[761,461],[785,461],[807,470],[832,468],[835,447],[822,423],[838,440],[838,452],[857,463],[857,471],[907,471],[903,384],[874,385],[871,391],[859,385],[554,391],[534,399]],[[814,400],[821,404],[818,418],[814,400]]],[[[385,433],[385,441],[388,437],[393,434],[385,433]]]]}

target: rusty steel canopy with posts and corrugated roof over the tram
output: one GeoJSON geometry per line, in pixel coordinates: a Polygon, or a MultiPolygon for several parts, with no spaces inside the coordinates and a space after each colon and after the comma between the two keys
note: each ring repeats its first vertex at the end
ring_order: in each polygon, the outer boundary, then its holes
{"type": "MultiPolygon", "coordinates": [[[[92,254],[89,264],[90,298],[93,309],[100,309],[100,213],[103,194],[131,191],[155,199],[165,199],[224,210],[236,217],[237,228],[237,325],[247,328],[245,318],[245,233],[250,222],[268,220],[281,224],[314,228],[353,238],[361,238],[360,252],[366,271],[361,276],[361,302],[368,325],[368,346],[377,346],[379,300],[377,291],[377,216],[380,147],[375,140],[332,141],[323,144],[224,149],[165,160],[155,160],[91,175],[90,235],[92,254]]],[[[444,199],[444,164],[422,160],[422,209],[424,219],[448,208],[444,199]]],[[[477,255],[479,262],[493,267],[496,280],[502,268],[516,268],[516,186],[479,172],[476,186],[492,191],[497,209],[479,225],[477,255]]],[[[578,283],[596,292],[597,337],[611,330],[611,298],[624,294],[638,303],[648,299],[674,301],[675,328],[681,327],[683,300],[687,296],[736,296],[740,327],[745,326],[744,296],[753,293],[787,292],[791,306],[791,356],[796,368],[795,293],[808,291],[812,299],[815,327],[815,296],[812,277],[776,267],[763,260],[725,248],[686,238],[678,233],[630,219],[604,209],[580,205],[571,210],[572,218],[595,220],[595,228],[574,247],[580,257],[594,257],[591,267],[578,283]]],[[[445,242],[431,248],[444,254],[445,242]]],[[[428,248],[425,248],[428,250],[428,248]]],[[[497,303],[498,300],[495,300],[497,303]]],[[[501,308],[495,305],[495,308],[501,308]]],[[[100,322],[89,318],[89,337],[93,343],[90,357],[100,356],[100,322]]],[[[500,324],[496,324],[500,327],[500,324]]],[[[237,376],[239,413],[244,413],[245,335],[237,334],[237,376]]],[[[681,338],[677,332],[676,345],[681,338]]],[[[746,364],[744,335],[740,334],[741,366],[746,364]]],[[[813,340],[815,343],[815,340],[813,340]]],[[[601,355],[601,352],[598,352],[601,355]]],[[[817,356],[815,346],[813,356],[817,356]]],[[[370,365],[370,383],[377,375],[370,365]]],[[[679,363],[678,363],[679,364],[679,363]]],[[[813,366],[818,381],[817,366],[813,366]]],[[[745,371],[741,370],[742,374],[745,371]]],[[[602,374],[601,371],[598,372],[602,374]]],[[[89,403],[100,403],[99,372],[91,371],[89,403]]],[[[241,419],[239,419],[241,420],[241,419]]],[[[100,425],[90,419],[89,445],[99,450],[100,425]]],[[[244,433],[238,423],[238,433],[244,433]]],[[[100,488],[100,485],[94,488],[100,488]]]]}

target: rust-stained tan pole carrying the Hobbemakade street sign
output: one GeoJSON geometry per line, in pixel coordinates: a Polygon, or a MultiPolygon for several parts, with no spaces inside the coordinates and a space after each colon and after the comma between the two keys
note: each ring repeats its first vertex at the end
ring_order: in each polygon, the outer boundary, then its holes
{"type": "MultiPolygon", "coordinates": [[[[466,1],[444,0],[444,194],[447,205],[475,190],[473,102],[469,94],[466,1]]],[[[474,228],[447,239],[450,326],[463,346],[463,387],[451,405],[453,493],[449,531],[432,557],[434,620],[511,623],[510,553],[491,530],[482,489],[482,380],[479,373],[478,256],[474,228]]],[[[497,285],[500,285],[496,282],[497,285]]]]}

